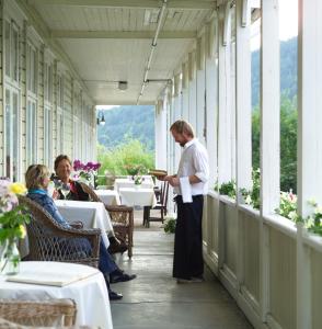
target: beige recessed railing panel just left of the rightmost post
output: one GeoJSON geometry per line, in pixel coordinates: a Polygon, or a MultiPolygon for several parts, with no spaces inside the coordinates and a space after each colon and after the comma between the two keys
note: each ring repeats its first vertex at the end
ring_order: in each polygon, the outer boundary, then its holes
{"type": "Polygon", "coordinates": [[[296,240],[269,227],[269,310],[284,329],[296,328],[296,240]]]}

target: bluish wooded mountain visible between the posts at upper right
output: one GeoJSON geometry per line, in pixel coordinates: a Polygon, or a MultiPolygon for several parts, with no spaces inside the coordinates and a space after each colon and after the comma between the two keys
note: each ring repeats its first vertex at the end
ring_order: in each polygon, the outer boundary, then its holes
{"type": "MultiPolygon", "coordinates": [[[[294,99],[297,94],[298,39],[280,42],[280,93],[294,99]]],[[[260,104],[260,50],[252,53],[252,106],[260,104]]]]}

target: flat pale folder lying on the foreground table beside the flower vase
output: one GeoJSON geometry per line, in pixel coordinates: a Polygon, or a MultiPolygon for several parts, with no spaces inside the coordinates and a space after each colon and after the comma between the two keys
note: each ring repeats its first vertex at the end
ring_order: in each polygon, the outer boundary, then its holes
{"type": "Polygon", "coordinates": [[[8,276],[5,281],[41,284],[41,285],[65,286],[97,273],[97,270],[95,269],[89,269],[89,270],[94,270],[94,271],[84,271],[81,273],[76,273],[74,271],[72,272],[61,271],[60,273],[50,273],[46,270],[37,271],[37,272],[25,271],[23,273],[18,273],[15,275],[8,276]]]}

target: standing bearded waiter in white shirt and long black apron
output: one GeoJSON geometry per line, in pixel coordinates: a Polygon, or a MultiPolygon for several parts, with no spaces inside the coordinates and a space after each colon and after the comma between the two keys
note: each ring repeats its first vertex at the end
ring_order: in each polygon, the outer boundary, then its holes
{"type": "Polygon", "coordinates": [[[172,124],[170,132],[183,148],[177,174],[162,179],[169,181],[176,193],[173,277],[177,279],[177,283],[202,282],[204,280],[202,219],[204,194],[208,190],[208,154],[195,138],[189,123],[179,120],[172,124]]]}

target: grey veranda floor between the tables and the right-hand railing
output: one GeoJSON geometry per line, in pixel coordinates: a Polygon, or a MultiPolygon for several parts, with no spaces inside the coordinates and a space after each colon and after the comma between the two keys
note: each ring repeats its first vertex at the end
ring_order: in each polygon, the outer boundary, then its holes
{"type": "Polygon", "coordinates": [[[143,228],[141,216],[136,212],[133,259],[117,260],[138,277],[112,285],[124,295],[111,305],[114,329],[253,328],[208,269],[206,282],[177,284],[171,276],[173,235],[165,235],[160,223],[143,228]]]}

